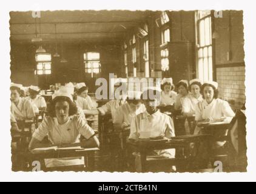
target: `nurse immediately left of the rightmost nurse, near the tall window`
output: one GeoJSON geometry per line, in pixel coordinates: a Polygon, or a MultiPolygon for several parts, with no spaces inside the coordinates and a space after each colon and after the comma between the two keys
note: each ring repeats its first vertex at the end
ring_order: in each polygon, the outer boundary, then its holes
{"type": "Polygon", "coordinates": [[[187,96],[181,98],[182,110],[184,116],[195,115],[195,105],[203,101],[203,96],[200,93],[201,81],[199,79],[192,79],[189,81],[189,93],[187,96]]]}

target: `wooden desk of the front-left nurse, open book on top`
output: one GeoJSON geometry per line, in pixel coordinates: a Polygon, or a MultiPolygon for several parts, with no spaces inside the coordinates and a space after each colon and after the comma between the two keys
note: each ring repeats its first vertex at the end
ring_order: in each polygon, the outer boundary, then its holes
{"type": "MultiPolygon", "coordinates": [[[[48,171],[44,164],[44,159],[47,158],[72,158],[84,156],[84,170],[92,172],[94,170],[94,153],[99,150],[97,147],[93,148],[83,148],[78,150],[47,150],[38,153],[32,153],[29,151],[20,153],[22,159],[22,165],[26,162],[29,163],[30,169],[32,170],[32,162],[39,161],[41,164],[41,170],[48,171]]],[[[67,166],[69,168],[69,166],[67,166]]]]}

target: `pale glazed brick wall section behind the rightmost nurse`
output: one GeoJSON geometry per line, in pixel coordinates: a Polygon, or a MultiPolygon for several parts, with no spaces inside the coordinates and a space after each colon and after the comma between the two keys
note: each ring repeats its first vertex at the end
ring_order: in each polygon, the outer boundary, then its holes
{"type": "Polygon", "coordinates": [[[234,109],[240,109],[246,99],[244,66],[219,67],[216,73],[219,97],[229,101],[234,109]]]}

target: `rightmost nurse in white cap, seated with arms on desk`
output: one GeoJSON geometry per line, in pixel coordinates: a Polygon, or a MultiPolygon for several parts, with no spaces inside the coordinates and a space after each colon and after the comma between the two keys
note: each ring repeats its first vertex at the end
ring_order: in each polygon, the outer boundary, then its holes
{"type": "Polygon", "coordinates": [[[230,122],[235,116],[229,103],[218,98],[217,89],[218,83],[214,81],[204,82],[202,85],[203,101],[198,102],[195,107],[195,121],[198,122],[198,125],[194,134],[201,132],[200,122],[230,122]]]}

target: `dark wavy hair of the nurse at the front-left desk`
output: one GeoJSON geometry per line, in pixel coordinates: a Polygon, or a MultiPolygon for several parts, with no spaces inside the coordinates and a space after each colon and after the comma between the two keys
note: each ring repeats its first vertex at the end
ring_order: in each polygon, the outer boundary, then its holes
{"type": "Polygon", "coordinates": [[[49,106],[47,107],[49,116],[55,117],[56,116],[56,113],[55,113],[56,102],[64,102],[64,101],[69,103],[69,116],[76,115],[76,113],[78,111],[76,104],[74,102],[72,102],[70,98],[68,98],[66,96],[57,96],[55,99],[53,99],[52,102],[50,102],[49,106]]]}

